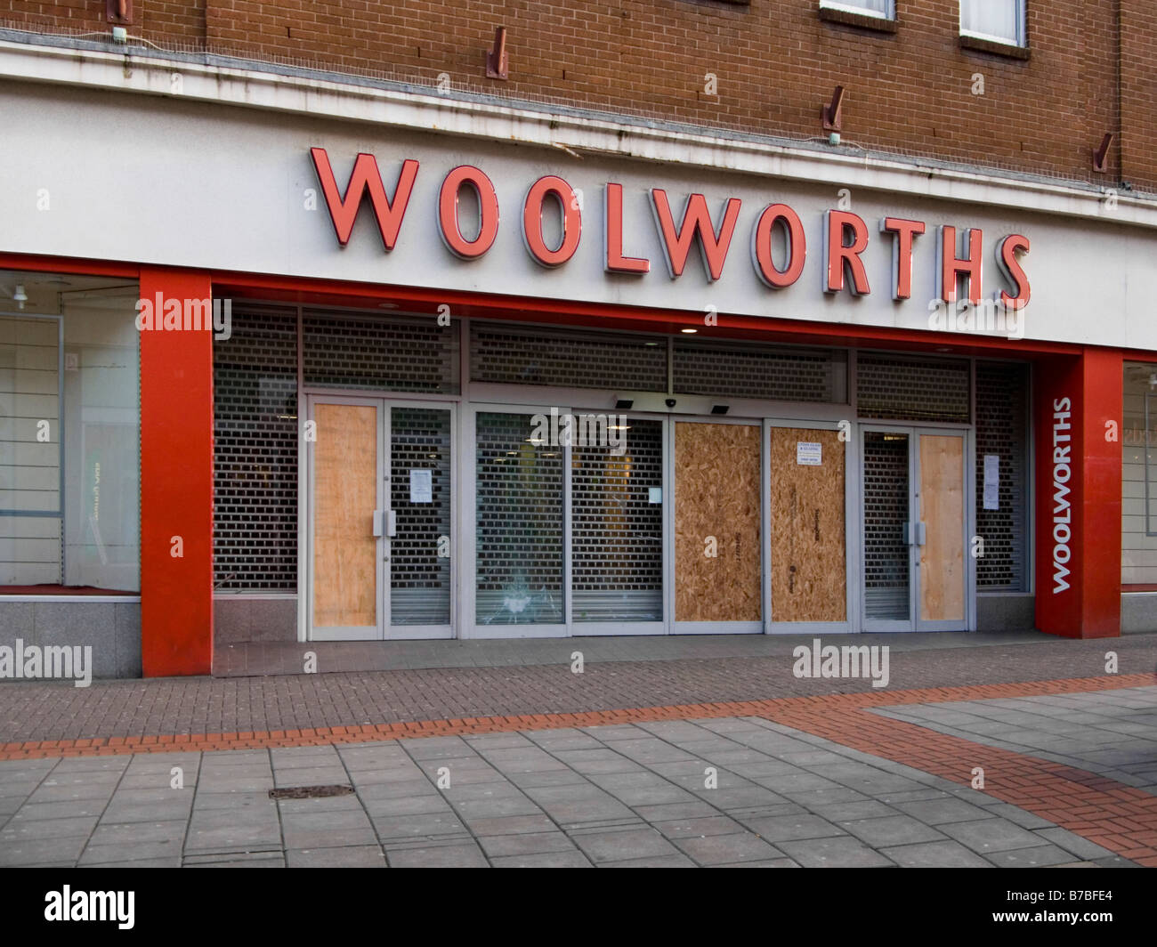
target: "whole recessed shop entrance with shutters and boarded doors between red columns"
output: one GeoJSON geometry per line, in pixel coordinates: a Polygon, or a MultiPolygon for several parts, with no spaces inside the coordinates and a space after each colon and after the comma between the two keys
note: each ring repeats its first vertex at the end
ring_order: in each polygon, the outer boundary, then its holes
{"type": "Polygon", "coordinates": [[[296,567],[295,644],[965,631],[978,587],[1017,590],[1015,366],[246,318],[215,376],[214,541],[233,585],[294,588],[267,548],[296,567]]]}

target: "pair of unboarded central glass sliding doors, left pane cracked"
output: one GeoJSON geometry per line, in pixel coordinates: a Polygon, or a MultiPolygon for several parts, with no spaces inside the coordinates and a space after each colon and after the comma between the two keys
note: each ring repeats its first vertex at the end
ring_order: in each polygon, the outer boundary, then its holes
{"type": "Polygon", "coordinates": [[[665,633],[665,419],[487,405],[473,426],[470,633],[665,633]]]}

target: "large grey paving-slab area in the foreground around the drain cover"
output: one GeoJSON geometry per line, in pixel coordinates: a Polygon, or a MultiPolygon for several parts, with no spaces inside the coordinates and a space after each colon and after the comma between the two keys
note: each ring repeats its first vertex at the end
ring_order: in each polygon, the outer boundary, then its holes
{"type": "Polygon", "coordinates": [[[1070,864],[1132,862],[757,718],[0,762],[2,866],[1070,864]],[[322,785],[355,792],[270,798],[322,785]]]}

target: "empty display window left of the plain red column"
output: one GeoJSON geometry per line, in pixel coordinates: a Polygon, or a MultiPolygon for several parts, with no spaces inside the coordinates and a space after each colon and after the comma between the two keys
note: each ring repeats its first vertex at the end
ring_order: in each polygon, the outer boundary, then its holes
{"type": "Polygon", "coordinates": [[[20,277],[0,314],[0,586],[140,589],[135,285],[20,277]]]}

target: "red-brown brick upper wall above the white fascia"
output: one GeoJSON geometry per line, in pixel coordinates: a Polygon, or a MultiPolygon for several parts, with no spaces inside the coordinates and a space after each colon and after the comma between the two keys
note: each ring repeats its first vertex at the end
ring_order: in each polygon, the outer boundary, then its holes
{"type": "MultiPolygon", "coordinates": [[[[826,135],[821,104],[847,88],[843,141],[867,148],[1157,190],[1157,12],[1120,0],[1029,0],[1031,59],[963,50],[957,0],[897,0],[894,34],[826,22],[818,0],[137,0],[131,32],[204,42],[258,59],[370,71],[514,97],[699,125],[826,135]],[[495,25],[510,80],[485,76],[495,25]],[[705,94],[705,74],[718,95],[705,94]],[[973,95],[980,73],[985,94],[973,95]],[[1105,132],[1123,131],[1110,172],[1091,172],[1105,132]],[[1121,156],[1125,155],[1122,168],[1121,156]]],[[[103,0],[0,0],[0,19],[108,31],[103,0]],[[6,10],[7,8],[7,10],[6,10]]]]}

